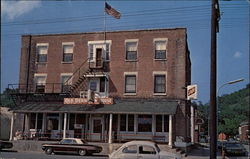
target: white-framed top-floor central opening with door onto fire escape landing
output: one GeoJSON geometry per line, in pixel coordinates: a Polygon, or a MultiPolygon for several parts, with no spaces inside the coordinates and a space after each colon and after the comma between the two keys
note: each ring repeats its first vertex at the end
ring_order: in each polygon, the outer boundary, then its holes
{"type": "Polygon", "coordinates": [[[89,62],[96,62],[100,57],[104,61],[110,60],[111,40],[105,41],[89,41],[88,42],[88,58],[89,62]],[[99,53],[101,52],[101,56],[99,53]]]}

